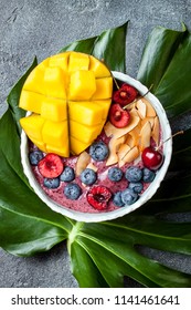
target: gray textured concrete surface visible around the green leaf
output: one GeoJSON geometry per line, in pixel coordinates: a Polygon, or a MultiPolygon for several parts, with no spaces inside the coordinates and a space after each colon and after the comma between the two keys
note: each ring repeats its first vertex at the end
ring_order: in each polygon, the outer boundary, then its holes
{"type": "MultiPolygon", "coordinates": [[[[41,61],[62,46],[129,20],[127,72],[136,76],[146,39],[156,25],[191,29],[190,0],[0,0],[0,114],[6,97],[36,55],[41,61]]],[[[191,258],[142,249],[167,266],[191,273],[191,258]]],[[[127,287],[139,287],[127,279],[127,287]]],[[[77,287],[65,244],[32,258],[0,250],[0,287],[77,287]]]]}

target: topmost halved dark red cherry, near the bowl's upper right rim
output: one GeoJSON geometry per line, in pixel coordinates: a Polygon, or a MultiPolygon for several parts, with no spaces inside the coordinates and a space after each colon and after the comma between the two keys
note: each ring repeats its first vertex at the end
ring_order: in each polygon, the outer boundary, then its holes
{"type": "Polygon", "coordinates": [[[121,106],[125,106],[132,102],[137,95],[138,92],[134,86],[124,83],[117,91],[114,92],[113,100],[121,106]]]}

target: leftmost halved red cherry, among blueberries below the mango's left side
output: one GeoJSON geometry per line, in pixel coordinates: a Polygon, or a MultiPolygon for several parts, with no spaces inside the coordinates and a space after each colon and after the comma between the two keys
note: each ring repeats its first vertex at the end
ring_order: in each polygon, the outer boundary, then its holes
{"type": "Polygon", "coordinates": [[[54,178],[62,174],[64,164],[60,156],[50,153],[39,162],[38,168],[43,177],[54,178]]]}

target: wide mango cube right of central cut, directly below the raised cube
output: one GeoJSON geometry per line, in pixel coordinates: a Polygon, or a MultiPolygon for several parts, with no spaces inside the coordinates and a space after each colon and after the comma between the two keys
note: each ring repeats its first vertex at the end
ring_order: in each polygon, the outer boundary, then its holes
{"type": "Polygon", "coordinates": [[[95,102],[68,102],[70,118],[87,126],[100,124],[104,112],[104,107],[95,102]]]}

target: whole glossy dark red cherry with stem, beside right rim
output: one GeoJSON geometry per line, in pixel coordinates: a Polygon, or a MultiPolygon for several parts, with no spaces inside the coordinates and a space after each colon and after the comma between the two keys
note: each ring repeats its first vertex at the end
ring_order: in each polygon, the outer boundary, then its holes
{"type": "Polygon", "coordinates": [[[163,155],[151,146],[144,149],[141,158],[145,167],[151,170],[157,170],[163,163],[163,155]]]}

